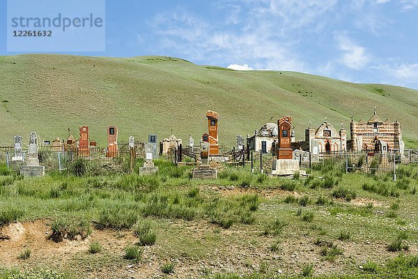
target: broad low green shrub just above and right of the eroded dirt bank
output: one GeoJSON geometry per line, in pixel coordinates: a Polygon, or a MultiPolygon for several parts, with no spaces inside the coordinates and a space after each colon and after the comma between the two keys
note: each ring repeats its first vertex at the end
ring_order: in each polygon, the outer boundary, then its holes
{"type": "Polygon", "coordinates": [[[138,213],[136,207],[114,205],[102,209],[99,215],[98,227],[103,229],[111,227],[113,229],[130,229],[137,223],[138,213]]]}

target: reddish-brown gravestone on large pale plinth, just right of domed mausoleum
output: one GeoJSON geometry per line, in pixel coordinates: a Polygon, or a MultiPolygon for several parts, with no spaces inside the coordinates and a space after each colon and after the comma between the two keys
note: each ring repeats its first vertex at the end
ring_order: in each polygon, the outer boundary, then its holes
{"type": "Polygon", "coordinates": [[[277,121],[279,133],[276,145],[277,158],[273,160],[272,165],[272,174],[274,175],[293,175],[295,172],[300,172],[299,161],[293,160],[291,126],[291,116],[284,116],[277,121]]]}

